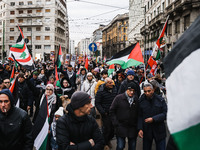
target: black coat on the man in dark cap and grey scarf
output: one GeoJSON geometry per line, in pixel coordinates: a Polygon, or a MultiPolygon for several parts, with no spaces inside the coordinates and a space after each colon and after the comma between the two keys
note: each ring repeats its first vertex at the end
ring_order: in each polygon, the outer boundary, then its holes
{"type": "Polygon", "coordinates": [[[138,98],[134,98],[132,105],[125,93],[117,95],[110,107],[110,116],[115,127],[115,134],[119,137],[136,138],[138,133],[138,98]]]}

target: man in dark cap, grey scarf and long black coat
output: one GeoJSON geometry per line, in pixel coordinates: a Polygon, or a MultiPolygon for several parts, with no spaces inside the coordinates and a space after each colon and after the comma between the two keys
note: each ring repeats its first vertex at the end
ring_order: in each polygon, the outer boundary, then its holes
{"type": "Polygon", "coordinates": [[[117,136],[117,150],[125,148],[128,138],[128,149],[135,150],[138,134],[139,102],[135,95],[136,85],[131,82],[125,93],[117,95],[110,107],[112,123],[117,136]]]}

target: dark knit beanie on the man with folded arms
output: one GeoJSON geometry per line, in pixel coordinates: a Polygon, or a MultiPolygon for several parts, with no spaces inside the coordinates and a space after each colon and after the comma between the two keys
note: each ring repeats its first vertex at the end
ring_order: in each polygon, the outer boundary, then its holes
{"type": "Polygon", "coordinates": [[[86,92],[77,91],[74,92],[71,97],[71,106],[74,110],[83,107],[85,104],[88,104],[90,102],[91,97],[86,92]]]}

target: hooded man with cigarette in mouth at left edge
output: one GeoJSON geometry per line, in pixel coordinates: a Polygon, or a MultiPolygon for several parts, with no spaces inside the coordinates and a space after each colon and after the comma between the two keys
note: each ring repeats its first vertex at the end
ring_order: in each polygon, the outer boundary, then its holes
{"type": "Polygon", "coordinates": [[[32,150],[32,124],[27,113],[14,106],[8,89],[0,91],[0,150],[32,150]]]}

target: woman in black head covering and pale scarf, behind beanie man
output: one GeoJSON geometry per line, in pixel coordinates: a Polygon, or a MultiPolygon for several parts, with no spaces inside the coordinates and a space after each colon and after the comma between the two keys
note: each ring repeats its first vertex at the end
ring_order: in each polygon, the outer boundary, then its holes
{"type": "Polygon", "coordinates": [[[70,99],[75,90],[72,88],[69,78],[63,77],[60,81],[60,85],[61,87],[57,89],[57,94],[60,96],[67,95],[70,99]]]}

